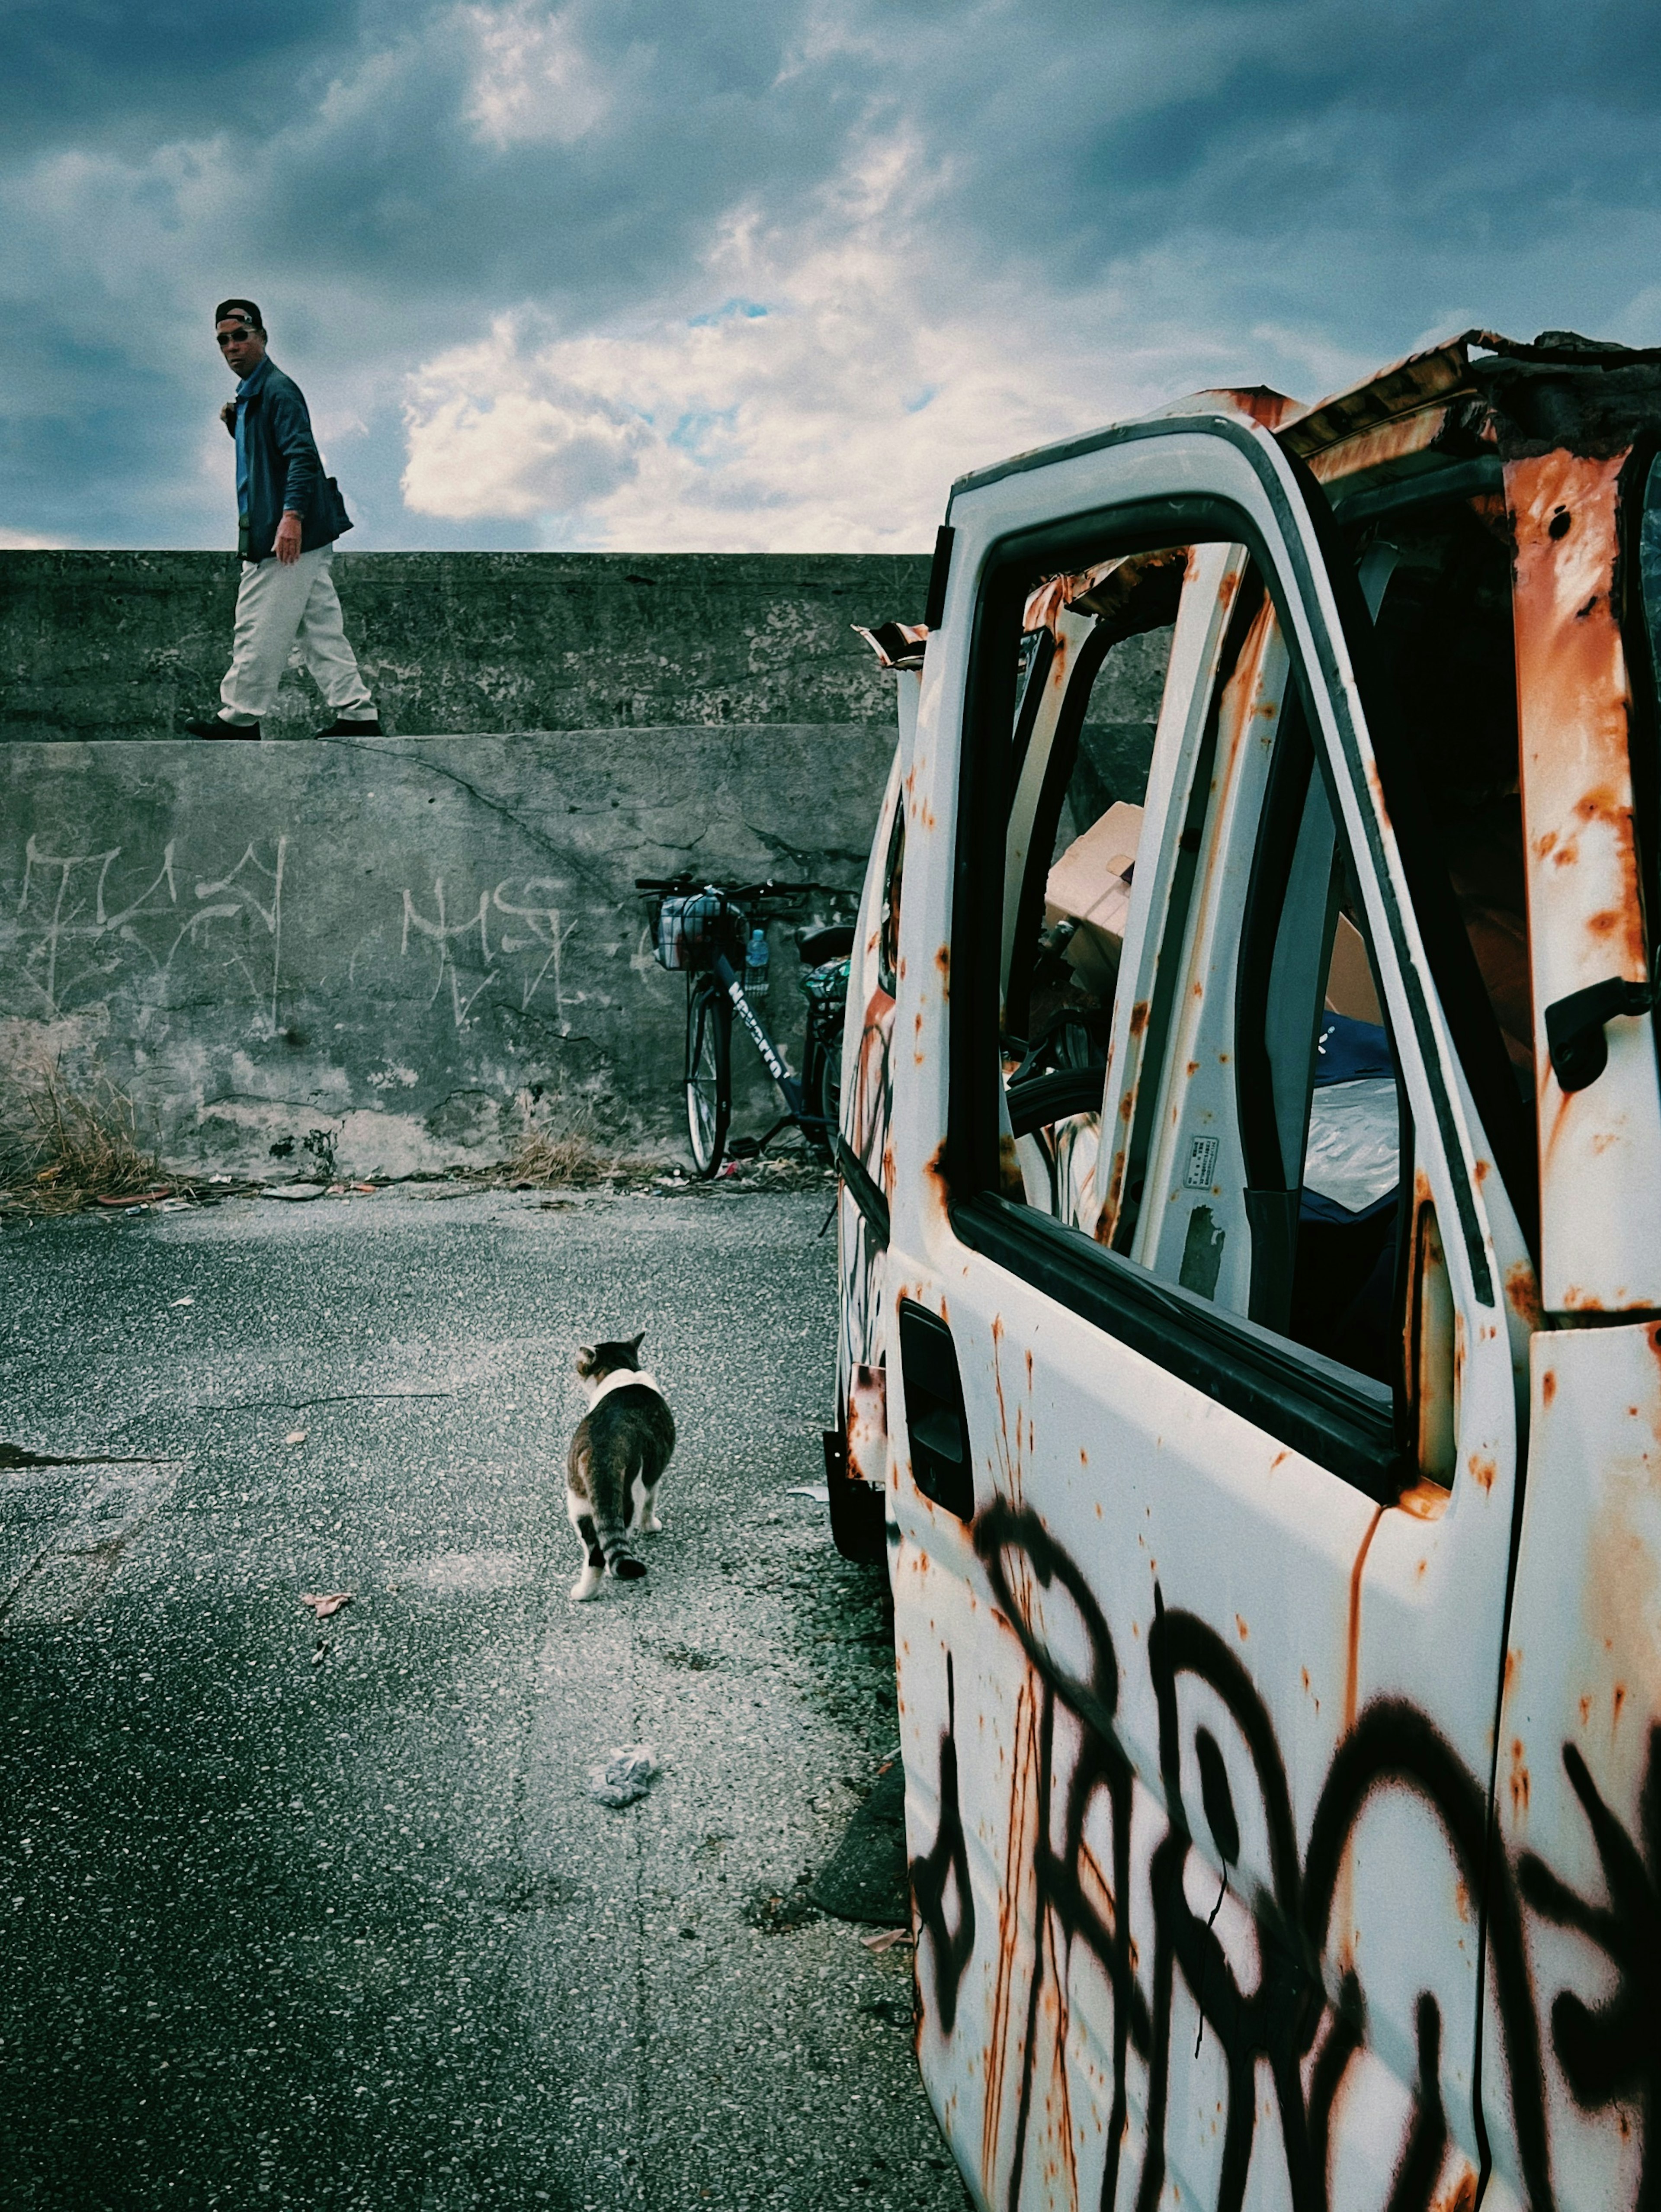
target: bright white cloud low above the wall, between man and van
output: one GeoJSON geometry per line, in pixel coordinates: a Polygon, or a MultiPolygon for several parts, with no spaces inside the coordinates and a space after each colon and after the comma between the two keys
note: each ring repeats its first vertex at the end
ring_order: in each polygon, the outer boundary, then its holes
{"type": "Polygon", "coordinates": [[[411,380],[409,507],[544,518],[551,542],[898,551],[955,473],[1163,396],[1161,363],[1020,281],[947,288],[902,146],[852,166],[807,234],[734,219],[708,307],[546,338],[500,319],[411,380]]]}

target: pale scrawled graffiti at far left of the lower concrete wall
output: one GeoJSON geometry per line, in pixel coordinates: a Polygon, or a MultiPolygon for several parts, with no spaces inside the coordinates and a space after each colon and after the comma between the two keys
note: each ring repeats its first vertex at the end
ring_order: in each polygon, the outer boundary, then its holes
{"type": "Polygon", "coordinates": [[[276,1029],[288,838],[276,838],[270,867],[250,843],[228,874],[192,885],[195,905],[179,889],[175,838],[164,845],[155,874],[144,860],[128,863],[117,876],[122,849],[42,852],[38,838],[29,838],[22,891],[4,936],[13,940],[27,987],[42,1002],[40,1011],[53,1020],[97,1004],[113,991],[133,987],[133,969],[139,995],[166,1004],[173,962],[188,942],[210,945],[239,967],[254,1004],[276,1029]],[[124,887],[115,889],[117,883],[124,887]],[[144,883],[137,896],[135,883],[144,883]],[[241,933],[212,929],[215,922],[234,920],[246,925],[241,933]],[[257,925],[252,931],[250,922],[257,925]],[[263,958],[254,962],[243,949],[259,927],[270,938],[270,971],[263,958]]]}

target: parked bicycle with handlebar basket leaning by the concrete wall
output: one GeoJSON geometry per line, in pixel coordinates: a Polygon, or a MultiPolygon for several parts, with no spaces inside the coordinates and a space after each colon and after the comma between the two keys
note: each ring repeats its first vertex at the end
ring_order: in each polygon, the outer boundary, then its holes
{"type": "Polygon", "coordinates": [[[701,883],[697,876],[637,876],[650,898],[652,949],[659,967],[686,973],[686,1128],[692,1166],[712,1177],[728,1148],[732,1121],[732,1018],[750,1035],[761,1064],[779,1086],[785,1113],[756,1146],[759,1152],[796,1126],[821,1159],[836,1141],[836,1102],[843,1079],[843,1006],[852,922],[818,922],[796,933],[807,998],[801,1077],[792,1075],[767,1035],[754,998],[767,989],[745,947],[767,922],[790,920],[807,898],[849,900],[825,883],[701,883]]]}

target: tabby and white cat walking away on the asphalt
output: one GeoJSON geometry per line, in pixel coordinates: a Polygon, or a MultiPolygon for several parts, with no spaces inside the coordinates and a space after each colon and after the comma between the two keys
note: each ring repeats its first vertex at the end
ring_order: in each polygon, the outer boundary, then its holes
{"type": "Polygon", "coordinates": [[[577,1380],[588,1411],[577,1422],[566,1458],[566,1513],[582,1544],[582,1575],[571,1597],[582,1604],[606,1571],[617,1582],[639,1582],[646,1562],[628,1537],[657,1535],[657,1484],[675,1451],[675,1416],[655,1378],[639,1365],[646,1329],[628,1343],[584,1345],[577,1380]]]}

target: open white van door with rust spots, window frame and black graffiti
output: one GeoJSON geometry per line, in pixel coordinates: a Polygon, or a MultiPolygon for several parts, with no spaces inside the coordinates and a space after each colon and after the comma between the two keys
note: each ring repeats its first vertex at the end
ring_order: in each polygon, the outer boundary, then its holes
{"type": "Polygon", "coordinates": [[[887,1190],[924,2081],[1000,2212],[1473,2203],[1482,2073],[1539,2073],[1488,1878],[1533,1168],[1356,675],[1391,562],[1221,405],[949,524],[887,1190]]]}

